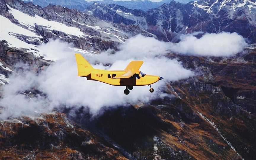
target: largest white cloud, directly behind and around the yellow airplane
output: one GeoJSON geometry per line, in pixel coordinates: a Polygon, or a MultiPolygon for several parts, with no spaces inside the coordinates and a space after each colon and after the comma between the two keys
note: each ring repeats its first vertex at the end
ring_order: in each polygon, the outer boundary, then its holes
{"type": "Polygon", "coordinates": [[[67,47],[66,43],[50,41],[40,49],[44,50],[45,54],[49,53],[47,56],[55,57],[58,61],[39,75],[27,71],[10,77],[10,84],[4,86],[3,98],[0,101],[0,105],[5,107],[0,119],[33,115],[34,111],[50,112],[52,108],[60,106],[85,106],[89,107],[92,113],[96,113],[103,106],[149,102],[152,99],[167,96],[160,89],[166,81],[176,81],[194,75],[192,71],[183,68],[176,59],[168,59],[164,56],[168,52],[168,43],[141,35],[127,40],[115,54],[111,54],[112,51],[108,50],[99,55],[85,57],[94,68],[110,70],[122,70],[132,60],[143,60],[141,71],[145,74],[164,77],[163,80],[152,85],[154,93],[149,92],[149,86],[135,86],[129,95],[125,95],[124,86],[111,86],[77,76],[74,52],[62,49],[67,47]],[[106,67],[104,64],[112,65],[106,67]],[[28,99],[25,95],[17,94],[31,88],[38,88],[46,93],[47,97],[38,96],[28,99]],[[18,101],[10,103],[13,99],[18,101]]]}

